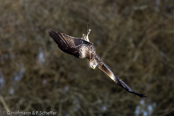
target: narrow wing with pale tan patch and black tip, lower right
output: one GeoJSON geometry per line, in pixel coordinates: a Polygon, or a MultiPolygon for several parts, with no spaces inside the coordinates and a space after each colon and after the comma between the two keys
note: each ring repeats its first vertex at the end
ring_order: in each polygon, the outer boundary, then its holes
{"type": "Polygon", "coordinates": [[[136,93],[134,92],[126,83],[124,83],[121,79],[119,79],[117,76],[114,75],[114,73],[111,71],[111,69],[100,59],[98,60],[98,68],[105,72],[114,82],[116,82],[119,86],[124,88],[126,91],[133,93],[135,95],[138,95],[139,97],[146,97],[144,94],[136,93]]]}

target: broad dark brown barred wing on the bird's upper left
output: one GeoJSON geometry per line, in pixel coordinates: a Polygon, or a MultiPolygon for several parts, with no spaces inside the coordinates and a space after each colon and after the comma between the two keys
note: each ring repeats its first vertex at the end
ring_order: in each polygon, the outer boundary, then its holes
{"type": "Polygon", "coordinates": [[[85,40],[71,37],[64,33],[55,32],[53,30],[49,31],[49,35],[54,39],[54,41],[58,44],[58,47],[62,51],[68,54],[74,55],[75,57],[78,57],[78,58],[80,56],[79,48],[82,45],[90,44],[89,42],[85,40]]]}

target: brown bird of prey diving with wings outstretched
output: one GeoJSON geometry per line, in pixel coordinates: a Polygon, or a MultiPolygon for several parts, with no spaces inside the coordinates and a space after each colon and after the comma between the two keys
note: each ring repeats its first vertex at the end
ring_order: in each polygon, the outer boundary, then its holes
{"type": "Polygon", "coordinates": [[[49,35],[57,43],[58,47],[65,53],[74,55],[77,58],[88,59],[89,66],[95,69],[97,66],[105,72],[115,83],[124,88],[126,91],[133,93],[139,97],[146,97],[144,94],[134,92],[126,83],[114,75],[111,69],[96,54],[94,44],[89,41],[88,29],[87,35],[83,34],[82,38],[76,38],[54,30],[49,31],[49,35]]]}

